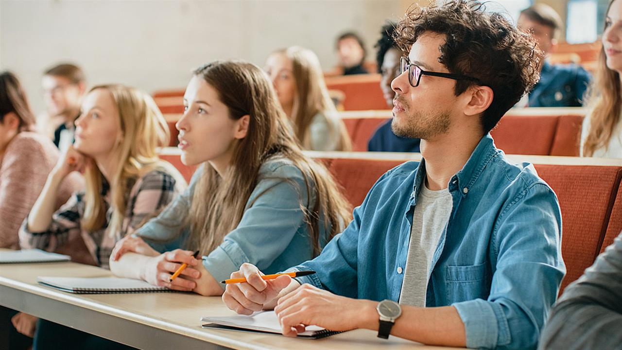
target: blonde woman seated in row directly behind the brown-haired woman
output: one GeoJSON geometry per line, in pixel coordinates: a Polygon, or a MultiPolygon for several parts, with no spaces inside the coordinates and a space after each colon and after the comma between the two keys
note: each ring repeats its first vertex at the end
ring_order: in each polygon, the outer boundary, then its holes
{"type": "Polygon", "coordinates": [[[273,52],[266,60],[266,72],[304,149],[350,151],[348,131],[328,95],[313,51],[292,46],[273,52]]]}

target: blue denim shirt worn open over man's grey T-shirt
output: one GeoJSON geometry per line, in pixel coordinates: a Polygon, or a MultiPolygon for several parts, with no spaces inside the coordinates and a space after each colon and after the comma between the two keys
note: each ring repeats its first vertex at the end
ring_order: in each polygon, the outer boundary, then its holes
{"type": "MultiPolygon", "coordinates": [[[[315,259],[290,270],[338,295],[399,301],[425,161],[391,169],[315,259]]],[[[427,306],[453,305],[469,348],[527,349],[565,274],[555,193],[531,164],[509,164],[486,135],[448,184],[450,219],[432,257],[427,306]]]]}

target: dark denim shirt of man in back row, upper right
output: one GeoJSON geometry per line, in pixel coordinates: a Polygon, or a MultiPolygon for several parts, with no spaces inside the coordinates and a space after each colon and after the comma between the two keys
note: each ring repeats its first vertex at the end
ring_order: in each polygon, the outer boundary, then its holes
{"type": "Polygon", "coordinates": [[[530,107],[580,107],[590,73],[578,65],[544,62],[540,80],[529,93],[530,107]]]}

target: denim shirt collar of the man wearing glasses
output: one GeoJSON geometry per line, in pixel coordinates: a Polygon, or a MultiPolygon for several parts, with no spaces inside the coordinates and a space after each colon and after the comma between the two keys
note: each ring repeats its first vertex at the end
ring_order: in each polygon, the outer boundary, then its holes
{"type": "MultiPolygon", "coordinates": [[[[486,164],[488,164],[490,159],[496,156],[497,153],[498,150],[494,146],[494,141],[490,133],[484,135],[462,169],[450,179],[448,184],[449,192],[460,191],[462,196],[466,196],[470,187],[473,186],[484,168],[486,168],[486,164]]],[[[411,194],[412,205],[417,204],[420,188],[424,184],[424,175],[425,159],[422,158],[419,166],[415,169],[415,181],[411,194]]]]}

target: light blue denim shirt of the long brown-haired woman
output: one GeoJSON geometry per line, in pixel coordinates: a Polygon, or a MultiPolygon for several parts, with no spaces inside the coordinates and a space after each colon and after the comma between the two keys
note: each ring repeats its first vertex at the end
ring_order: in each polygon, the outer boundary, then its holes
{"type": "MultiPolygon", "coordinates": [[[[192,176],[185,192],[137,230],[136,235],[159,252],[175,248],[196,249],[185,243],[190,233],[187,215],[202,169],[192,176]]],[[[238,271],[245,262],[266,273],[277,273],[313,258],[313,244],[300,209],[300,203],[309,210],[315,205],[315,189],[310,193],[308,201],[302,171],[289,159],[264,162],[238,226],[225,236],[216,250],[202,252],[208,253],[203,256],[205,268],[216,281],[221,281],[230,278],[231,273],[238,271]]],[[[320,237],[323,237],[320,247],[327,243],[326,232],[320,227],[320,237]]]]}

